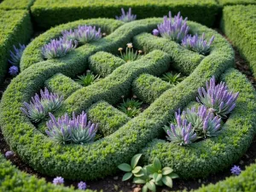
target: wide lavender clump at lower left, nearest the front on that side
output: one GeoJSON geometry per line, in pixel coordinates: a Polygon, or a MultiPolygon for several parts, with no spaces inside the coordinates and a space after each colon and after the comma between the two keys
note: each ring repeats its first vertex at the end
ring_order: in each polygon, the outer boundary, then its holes
{"type": "Polygon", "coordinates": [[[96,136],[98,124],[87,122],[87,114],[84,111],[77,117],[73,113],[73,119],[70,119],[67,113],[58,120],[52,113],[49,113],[49,117],[46,134],[57,143],[84,144],[93,142],[96,136]]]}

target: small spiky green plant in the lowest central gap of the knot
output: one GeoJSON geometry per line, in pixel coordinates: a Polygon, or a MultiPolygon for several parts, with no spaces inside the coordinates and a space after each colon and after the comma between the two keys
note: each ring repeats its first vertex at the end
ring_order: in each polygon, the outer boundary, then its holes
{"type": "Polygon", "coordinates": [[[119,105],[119,110],[125,113],[128,117],[135,117],[137,114],[141,113],[142,108],[141,105],[143,102],[139,102],[133,98],[123,100],[123,102],[119,105]]]}

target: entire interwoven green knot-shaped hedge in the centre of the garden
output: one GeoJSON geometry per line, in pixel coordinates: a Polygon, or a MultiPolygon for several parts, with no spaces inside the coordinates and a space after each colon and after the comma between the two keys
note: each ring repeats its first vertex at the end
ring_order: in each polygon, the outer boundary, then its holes
{"type": "Polygon", "coordinates": [[[22,73],[5,91],[0,113],[3,135],[22,160],[38,172],[50,176],[87,180],[116,172],[120,163],[130,161],[133,154],[142,150],[145,161],[158,156],[164,166],[172,166],[181,177],[205,177],[230,166],[244,153],[253,137],[255,92],[240,73],[233,70],[224,73],[234,65],[230,44],[206,26],[189,22],[191,33],[206,32],[207,38],[212,35],[216,37],[210,55],[198,55],[172,41],[147,33],[152,32],[161,20],[137,20],[127,24],[107,19],[79,20],[50,29],[26,48],[21,61],[22,73]],[[43,60],[40,49],[44,44],[60,36],[62,30],[84,24],[101,26],[108,36],[81,46],[63,58],[43,60]],[[147,55],[137,61],[120,62],[115,56],[117,49],[129,42],[138,49],[144,49],[147,55]],[[97,59],[98,54],[108,55],[112,58],[111,62],[97,59]],[[99,63],[104,63],[102,68],[99,63]],[[82,88],[70,78],[88,67],[104,74],[105,78],[82,88]],[[109,67],[110,71],[104,67],[109,67]],[[162,86],[165,82],[155,76],[165,73],[170,67],[189,77],[173,88],[166,86],[154,90],[150,86],[140,85],[154,81],[162,86]],[[217,79],[221,76],[231,90],[241,92],[236,110],[224,125],[224,133],[220,137],[195,143],[191,148],[158,139],[163,132],[162,126],[167,124],[177,108],[184,108],[195,100],[197,88],[204,86],[212,75],[217,79]],[[60,86],[57,85],[59,82],[60,86]],[[55,115],[86,110],[90,119],[102,120],[105,137],[84,146],[63,146],[42,134],[44,124],[39,125],[38,130],[20,112],[20,107],[44,85],[66,98],[55,115]],[[143,89],[148,89],[148,93],[155,96],[154,99],[148,101],[150,96],[145,95],[143,89]],[[144,102],[151,103],[134,119],[113,108],[120,97],[128,96],[131,90],[137,91],[144,102]],[[106,115],[110,117],[106,118],[106,115]],[[118,119],[118,116],[122,118],[118,119]],[[144,148],[147,143],[147,148],[144,148]],[[201,167],[206,168],[198,172],[201,167]]]}

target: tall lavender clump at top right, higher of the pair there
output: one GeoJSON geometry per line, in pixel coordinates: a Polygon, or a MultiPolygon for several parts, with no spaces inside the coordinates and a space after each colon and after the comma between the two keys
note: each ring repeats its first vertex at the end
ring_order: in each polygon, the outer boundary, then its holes
{"type": "Polygon", "coordinates": [[[182,39],[186,37],[189,32],[189,26],[187,26],[188,18],[183,20],[183,17],[178,12],[172,19],[172,13],[169,12],[169,19],[164,16],[164,22],[158,25],[158,30],[163,38],[169,38],[177,43],[181,43],[182,39]]]}

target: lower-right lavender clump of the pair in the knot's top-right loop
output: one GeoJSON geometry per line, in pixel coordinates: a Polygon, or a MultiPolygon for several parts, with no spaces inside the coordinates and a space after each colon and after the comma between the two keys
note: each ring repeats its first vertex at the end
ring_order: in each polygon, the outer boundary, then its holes
{"type": "Polygon", "coordinates": [[[202,34],[201,38],[198,37],[197,34],[195,36],[187,35],[182,40],[182,45],[187,49],[194,50],[202,55],[207,55],[210,52],[211,44],[214,40],[214,36],[210,39],[207,44],[207,40],[205,40],[205,33],[202,34]]]}

